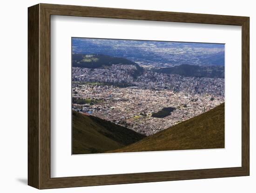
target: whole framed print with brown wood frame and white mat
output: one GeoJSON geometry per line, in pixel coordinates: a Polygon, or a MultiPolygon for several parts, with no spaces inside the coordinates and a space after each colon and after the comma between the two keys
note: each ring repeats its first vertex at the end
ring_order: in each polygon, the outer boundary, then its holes
{"type": "Polygon", "coordinates": [[[28,185],[249,175],[249,18],[28,8],[28,185]]]}

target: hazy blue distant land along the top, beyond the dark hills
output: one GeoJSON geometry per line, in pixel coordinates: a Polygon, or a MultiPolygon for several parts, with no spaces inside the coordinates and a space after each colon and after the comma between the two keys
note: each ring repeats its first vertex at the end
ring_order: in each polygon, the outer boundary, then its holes
{"type": "Polygon", "coordinates": [[[72,38],[72,52],[128,58],[155,67],[173,64],[224,65],[224,44],[72,38]]]}

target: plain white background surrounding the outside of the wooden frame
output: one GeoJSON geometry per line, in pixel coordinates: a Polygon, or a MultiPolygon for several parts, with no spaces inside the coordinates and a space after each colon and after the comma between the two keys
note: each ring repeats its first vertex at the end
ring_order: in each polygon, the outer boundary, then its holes
{"type": "Polygon", "coordinates": [[[130,192],[191,192],[191,193],[253,193],[256,167],[254,167],[253,120],[256,104],[256,67],[253,65],[253,48],[256,47],[256,12],[252,0],[8,0],[0,6],[0,190],[1,192],[34,193],[27,186],[27,7],[37,3],[73,4],[159,11],[211,13],[250,17],[250,142],[251,175],[222,179],[185,180],[101,187],[78,187],[42,190],[60,193],[130,193],[130,192]]]}

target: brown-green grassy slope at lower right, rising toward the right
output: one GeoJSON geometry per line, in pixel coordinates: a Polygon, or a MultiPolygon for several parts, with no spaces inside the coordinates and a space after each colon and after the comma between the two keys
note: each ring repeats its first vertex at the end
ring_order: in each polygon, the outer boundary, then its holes
{"type": "Polygon", "coordinates": [[[199,116],[111,152],[224,148],[224,103],[199,116]]]}

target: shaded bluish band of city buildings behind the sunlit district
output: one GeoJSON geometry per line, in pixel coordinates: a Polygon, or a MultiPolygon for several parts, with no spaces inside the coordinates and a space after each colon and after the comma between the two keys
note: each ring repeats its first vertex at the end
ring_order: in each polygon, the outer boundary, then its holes
{"type": "Polygon", "coordinates": [[[207,77],[183,77],[157,73],[150,69],[134,77],[134,65],[112,65],[106,68],[72,68],[72,80],[79,82],[101,82],[108,84],[127,84],[141,89],[173,90],[193,94],[224,96],[224,79],[207,77]]]}

